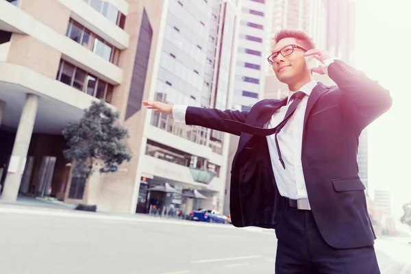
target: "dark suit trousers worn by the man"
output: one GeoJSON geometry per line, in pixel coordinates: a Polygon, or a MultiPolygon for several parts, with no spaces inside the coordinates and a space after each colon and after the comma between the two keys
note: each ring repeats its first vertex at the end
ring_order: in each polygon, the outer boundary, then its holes
{"type": "MultiPolygon", "coordinates": [[[[334,249],[309,210],[288,208],[277,216],[276,274],[379,274],[373,246],[334,249]]],[[[338,235],[336,235],[338,237],[338,235]]]]}

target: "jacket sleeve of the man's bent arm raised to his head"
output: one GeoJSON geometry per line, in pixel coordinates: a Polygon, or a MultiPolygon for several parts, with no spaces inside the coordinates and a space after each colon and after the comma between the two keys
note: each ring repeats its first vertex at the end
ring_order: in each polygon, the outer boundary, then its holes
{"type": "Polygon", "coordinates": [[[328,75],[345,92],[345,112],[358,132],[387,112],[393,104],[388,90],[341,60],[329,64],[328,75]]]}

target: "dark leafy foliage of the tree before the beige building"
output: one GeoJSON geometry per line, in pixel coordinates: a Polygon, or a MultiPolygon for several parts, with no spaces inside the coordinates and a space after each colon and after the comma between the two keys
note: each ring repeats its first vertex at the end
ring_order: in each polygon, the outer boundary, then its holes
{"type": "Polygon", "coordinates": [[[73,174],[88,177],[95,171],[116,172],[124,161],[132,159],[127,145],[128,130],[117,125],[119,112],[113,112],[104,101],[93,102],[78,123],[67,125],[62,134],[69,147],[64,157],[75,161],[73,174]]]}

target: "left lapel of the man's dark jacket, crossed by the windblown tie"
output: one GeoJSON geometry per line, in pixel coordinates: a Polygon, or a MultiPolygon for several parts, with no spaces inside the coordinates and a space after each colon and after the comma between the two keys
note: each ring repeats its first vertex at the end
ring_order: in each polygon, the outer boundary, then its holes
{"type": "MultiPolygon", "coordinates": [[[[249,125],[253,125],[255,127],[262,127],[267,121],[269,121],[271,116],[273,116],[274,112],[276,112],[283,105],[286,105],[286,103],[287,98],[280,101],[275,100],[274,102],[268,100],[266,105],[263,105],[259,112],[256,112],[256,114],[249,114],[249,121],[246,121],[246,123],[249,125]]],[[[241,134],[240,142],[238,144],[238,151],[245,147],[245,145],[247,144],[247,142],[249,142],[251,137],[253,137],[251,134],[241,134]]]]}

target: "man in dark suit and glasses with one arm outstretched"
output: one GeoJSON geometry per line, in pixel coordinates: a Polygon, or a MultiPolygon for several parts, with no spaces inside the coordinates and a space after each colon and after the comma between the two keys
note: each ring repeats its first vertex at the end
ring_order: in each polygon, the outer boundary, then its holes
{"type": "Polygon", "coordinates": [[[388,90],[304,32],[282,30],[268,58],[290,90],[249,111],[143,102],[187,125],[240,136],[232,163],[230,212],[236,227],[275,228],[275,273],[379,273],[375,233],[358,177],[358,138],[384,114],[388,90]],[[319,67],[306,66],[313,56],[319,67]],[[312,81],[328,75],[336,86],[312,81]]]}

